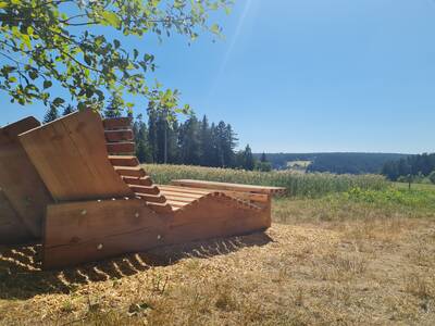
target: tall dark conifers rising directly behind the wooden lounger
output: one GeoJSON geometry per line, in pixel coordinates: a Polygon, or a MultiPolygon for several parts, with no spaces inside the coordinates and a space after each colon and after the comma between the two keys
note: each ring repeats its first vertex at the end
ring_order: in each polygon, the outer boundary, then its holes
{"type": "MultiPolygon", "coordinates": [[[[108,105],[102,112],[105,117],[117,117],[122,112],[116,105],[108,105]]],[[[69,105],[62,112],[74,112],[69,105]]],[[[186,121],[179,122],[171,111],[158,110],[152,102],[147,109],[147,121],[142,115],[132,118],[136,143],[136,155],[140,163],[186,164],[211,167],[243,168],[247,171],[271,171],[265,154],[257,160],[247,145],[243,150],[238,146],[237,135],[231,124],[224,121],[210,123],[204,115],[201,120],[191,113],[186,121]]],[[[49,123],[61,114],[49,109],[44,123],[49,123]]]]}

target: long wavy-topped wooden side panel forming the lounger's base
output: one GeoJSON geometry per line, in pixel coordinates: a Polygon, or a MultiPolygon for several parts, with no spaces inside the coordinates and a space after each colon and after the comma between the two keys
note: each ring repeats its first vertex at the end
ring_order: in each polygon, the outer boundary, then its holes
{"type": "Polygon", "coordinates": [[[264,230],[264,210],[227,198],[204,198],[183,210],[157,214],[144,200],[107,200],[48,206],[44,267],[60,268],[152,248],[264,230]]]}

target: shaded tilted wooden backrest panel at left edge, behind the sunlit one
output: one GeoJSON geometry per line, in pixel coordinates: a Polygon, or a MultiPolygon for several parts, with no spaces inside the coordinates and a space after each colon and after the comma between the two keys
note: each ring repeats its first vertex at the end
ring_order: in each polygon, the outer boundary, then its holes
{"type": "Polygon", "coordinates": [[[38,126],[36,118],[27,117],[0,128],[0,187],[28,231],[37,238],[41,236],[46,206],[52,199],[18,135],[38,126]]]}

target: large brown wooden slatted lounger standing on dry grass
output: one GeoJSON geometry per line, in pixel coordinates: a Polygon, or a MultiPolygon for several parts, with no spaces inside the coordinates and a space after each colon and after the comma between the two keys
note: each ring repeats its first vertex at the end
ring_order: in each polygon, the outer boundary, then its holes
{"type": "Polygon", "coordinates": [[[134,151],[129,118],[90,110],[0,128],[0,243],[41,241],[55,268],[270,227],[284,188],[154,185],[134,151]]]}

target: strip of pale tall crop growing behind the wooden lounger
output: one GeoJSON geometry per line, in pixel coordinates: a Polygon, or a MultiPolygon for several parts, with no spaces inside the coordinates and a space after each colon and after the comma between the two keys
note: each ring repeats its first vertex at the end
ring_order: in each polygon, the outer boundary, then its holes
{"type": "Polygon", "coordinates": [[[352,188],[381,190],[388,183],[380,175],[334,175],[326,173],[300,174],[286,171],[251,172],[244,170],[200,167],[187,165],[145,164],[144,168],[158,184],[173,179],[202,179],[285,187],[290,197],[320,197],[352,188]]]}

